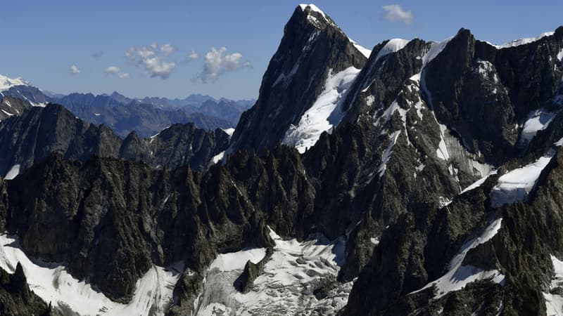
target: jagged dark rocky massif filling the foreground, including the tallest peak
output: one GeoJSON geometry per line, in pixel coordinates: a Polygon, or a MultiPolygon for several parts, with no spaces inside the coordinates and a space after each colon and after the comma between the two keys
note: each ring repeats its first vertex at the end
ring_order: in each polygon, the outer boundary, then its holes
{"type": "MultiPolygon", "coordinates": [[[[0,180],[0,228],[116,301],[152,265],[183,261],[170,315],[203,310],[218,254],[279,246],[270,229],[346,239],[338,275],[296,296],[353,283],[342,315],[561,313],[562,59],[563,27],[511,47],[466,29],[391,39],[366,59],[299,6],[230,145],[191,125],[121,140],[55,105],[2,121],[4,172],[30,168],[0,180]],[[350,67],[346,93],[327,84],[350,67]],[[338,124],[303,154],[279,145],[332,92],[338,124]]],[[[269,262],[248,261],[227,286],[250,295],[269,262]]]]}

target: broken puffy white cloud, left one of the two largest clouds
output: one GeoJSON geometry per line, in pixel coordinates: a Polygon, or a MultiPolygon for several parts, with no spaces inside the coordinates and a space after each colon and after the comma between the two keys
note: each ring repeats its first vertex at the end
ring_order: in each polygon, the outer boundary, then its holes
{"type": "Polygon", "coordinates": [[[175,48],[170,44],[160,46],[160,51],[158,51],[158,44],[153,43],[149,46],[132,46],[125,56],[137,65],[142,65],[145,72],[151,77],[168,79],[176,67],[176,62],[166,60],[173,51],[175,48]]]}

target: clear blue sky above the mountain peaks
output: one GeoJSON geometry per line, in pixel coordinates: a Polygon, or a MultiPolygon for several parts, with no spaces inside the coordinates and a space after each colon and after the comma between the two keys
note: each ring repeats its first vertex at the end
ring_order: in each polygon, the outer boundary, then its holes
{"type": "MultiPolygon", "coordinates": [[[[536,1],[533,6],[530,1],[502,2],[340,0],[315,4],[366,48],[394,37],[441,40],[460,27],[471,29],[477,39],[502,44],[563,25],[563,1],[536,1]],[[383,7],[395,4],[410,12],[411,18],[386,20],[383,7]]],[[[256,98],[284,25],[299,3],[3,1],[0,74],[23,77],[59,93],[256,98]]]]}

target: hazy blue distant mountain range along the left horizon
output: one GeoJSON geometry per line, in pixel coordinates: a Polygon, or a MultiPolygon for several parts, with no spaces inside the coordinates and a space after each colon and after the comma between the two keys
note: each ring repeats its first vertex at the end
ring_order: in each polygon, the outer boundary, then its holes
{"type": "MultiPolygon", "coordinates": [[[[185,99],[143,98],[134,99],[118,92],[110,95],[70,93],[62,95],[42,91],[24,79],[10,79],[0,75],[0,98],[11,96],[25,100],[33,106],[44,107],[58,103],[77,117],[94,124],[106,124],[119,136],[132,131],[139,136],[152,136],[172,124],[194,123],[200,129],[229,129],[236,126],[241,114],[255,100],[219,100],[194,94],[185,99]]],[[[0,111],[0,119],[18,115],[15,111],[0,111]]]]}

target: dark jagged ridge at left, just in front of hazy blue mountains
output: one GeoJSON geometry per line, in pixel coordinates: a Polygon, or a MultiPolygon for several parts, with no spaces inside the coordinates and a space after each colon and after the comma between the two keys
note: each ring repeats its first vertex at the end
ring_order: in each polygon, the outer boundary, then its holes
{"type": "Polygon", "coordinates": [[[108,126],[85,123],[61,105],[33,107],[6,119],[0,133],[1,175],[15,164],[23,171],[52,152],[82,162],[96,155],[143,161],[155,168],[190,164],[201,170],[229,143],[224,131],[203,131],[194,124],[175,124],[150,139],[131,133],[122,140],[108,126]]]}

